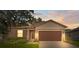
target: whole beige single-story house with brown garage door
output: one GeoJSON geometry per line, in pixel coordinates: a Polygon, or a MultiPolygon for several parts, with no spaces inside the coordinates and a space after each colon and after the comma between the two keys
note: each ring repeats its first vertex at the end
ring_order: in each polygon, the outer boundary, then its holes
{"type": "Polygon", "coordinates": [[[29,41],[62,41],[66,27],[53,20],[42,21],[29,26],[11,27],[8,37],[23,37],[29,41]]]}

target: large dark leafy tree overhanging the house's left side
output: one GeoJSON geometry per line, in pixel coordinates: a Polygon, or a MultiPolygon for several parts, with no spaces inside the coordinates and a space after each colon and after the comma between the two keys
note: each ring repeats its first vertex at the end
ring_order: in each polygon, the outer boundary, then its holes
{"type": "Polygon", "coordinates": [[[33,21],[33,10],[0,10],[0,33],[4,36],[8,33],[8,27],[27,25],[33,21]]]}

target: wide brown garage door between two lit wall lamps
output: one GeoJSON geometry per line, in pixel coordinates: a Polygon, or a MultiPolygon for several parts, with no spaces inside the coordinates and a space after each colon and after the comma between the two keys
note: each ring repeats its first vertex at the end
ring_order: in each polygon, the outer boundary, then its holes
{"type": "Polygon", "coordinates": [[[61,41],[61,31],[39,31],[40,41],[61,41]]]}

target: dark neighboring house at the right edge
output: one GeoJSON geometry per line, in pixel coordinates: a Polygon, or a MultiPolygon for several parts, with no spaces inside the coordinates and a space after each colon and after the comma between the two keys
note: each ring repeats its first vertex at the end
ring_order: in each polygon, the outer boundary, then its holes
{"type": "Polygon", "coordinates": [[[68,33],[69,33],[69,36],[71,37],[71,39],[79,40],[79,27],[69,31],[68,33]]]}

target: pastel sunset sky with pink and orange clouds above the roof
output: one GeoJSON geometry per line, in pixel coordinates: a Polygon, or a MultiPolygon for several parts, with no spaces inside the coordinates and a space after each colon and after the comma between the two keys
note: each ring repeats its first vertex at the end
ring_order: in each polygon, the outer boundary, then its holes
{"type": "Polygon", "coordinates": [[[34,16],[54,20],[73,29],[79,27],[79,10],[35,10],[34,16]]]}

